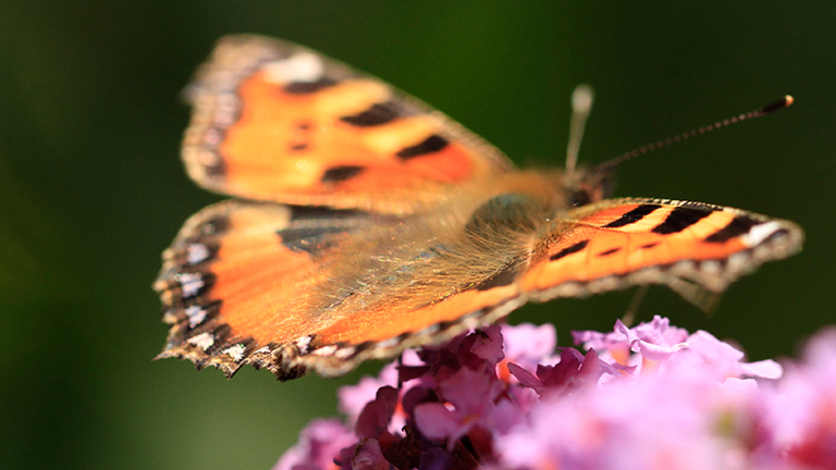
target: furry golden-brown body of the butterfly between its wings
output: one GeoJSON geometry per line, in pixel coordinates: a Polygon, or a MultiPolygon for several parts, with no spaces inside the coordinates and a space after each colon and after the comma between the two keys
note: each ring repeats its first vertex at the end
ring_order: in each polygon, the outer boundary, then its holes
{"type": "Polygon", "coordinates": [[[467,289],[513,284],[553,235],[570,199],[558,172],[519,172],[460,188],[427,211],[343,235],[324,252],[311,314],[432,305],[467,289]],[[369,230],[373,227],[373,230],[369,230]],[[316,306],[316,307],[314,307],[316,306]]]}

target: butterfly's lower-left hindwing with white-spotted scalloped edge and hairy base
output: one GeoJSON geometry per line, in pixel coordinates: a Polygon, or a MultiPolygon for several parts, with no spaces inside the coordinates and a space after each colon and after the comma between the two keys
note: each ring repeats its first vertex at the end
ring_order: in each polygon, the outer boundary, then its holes
{"type": "Polygon", "coordinates": [[[336,375],[494,321],[521,299],[511,282],[457,284],[464,276],[451,271],[467,248],[459,231],[439,230],[456,223],[271,202],[210,206],[163,255],[155,289],[172,326],[159,357],[228,375],[243,364],[283,380],[307,370],[336,375]]]}

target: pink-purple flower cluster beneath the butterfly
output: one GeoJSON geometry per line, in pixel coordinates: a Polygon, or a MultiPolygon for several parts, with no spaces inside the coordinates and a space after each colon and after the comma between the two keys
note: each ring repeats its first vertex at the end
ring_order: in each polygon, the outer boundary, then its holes
{"type": "Polygon", "coordinates": [[[408,351],[274,470],[836,469],[836,329],[786,372],[660,317],[574,336],[586,354],[553,356],[548,324],[408,351]]]}

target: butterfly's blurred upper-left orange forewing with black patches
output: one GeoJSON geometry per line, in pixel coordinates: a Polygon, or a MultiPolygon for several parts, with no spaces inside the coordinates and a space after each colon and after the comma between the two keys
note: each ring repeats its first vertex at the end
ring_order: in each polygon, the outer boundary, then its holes
{"type": "Polygon", "coordinates": [[[188,97],[189,175],[248,199],[411,212],[513,168],[418,100],[279,40],[222,39],[188,97]]]}

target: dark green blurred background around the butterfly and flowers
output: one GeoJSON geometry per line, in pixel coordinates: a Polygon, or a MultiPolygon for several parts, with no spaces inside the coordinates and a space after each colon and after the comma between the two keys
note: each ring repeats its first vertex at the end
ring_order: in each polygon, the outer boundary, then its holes
{"type": "MultiPolygon", "coordinates": [[[[378,75],[520,164],[563,164],[579,83],[598,97],[586,162],[795,95],[777,115],[623,165],[617,188],[803,225],[804,251],[737,283],[713,317],[663,288],[641,308],[752,359],[794,355],[836,323],[834,20],[828,0],[0,1],[0,467],[266,469],[336,412],[339,385],[380,367],[282,384],[150,361],[167,331],[150,289],[160,252],[220,199],[181,166],[179,92],[231,33],[378,75]]],[[[629,299],[512,321],[552,321],[566,344],[570,329],[610,329],[629,299]]]]}

